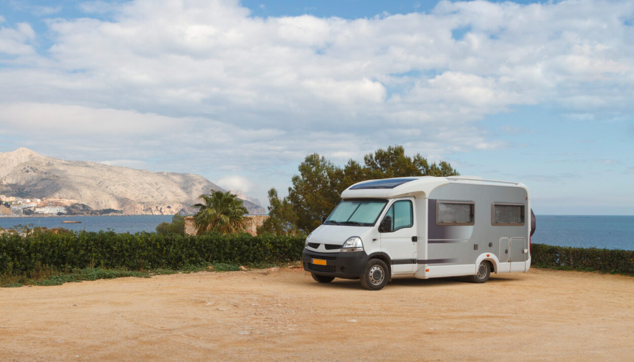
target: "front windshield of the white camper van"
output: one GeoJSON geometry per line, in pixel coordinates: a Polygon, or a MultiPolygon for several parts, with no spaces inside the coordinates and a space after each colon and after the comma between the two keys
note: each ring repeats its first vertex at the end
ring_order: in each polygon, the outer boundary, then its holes
{"type": "Polygon", "coordinates": [[[387,204],[387,200],[343,200],[332,211],[329,225],[372,226],[387,204]]]}

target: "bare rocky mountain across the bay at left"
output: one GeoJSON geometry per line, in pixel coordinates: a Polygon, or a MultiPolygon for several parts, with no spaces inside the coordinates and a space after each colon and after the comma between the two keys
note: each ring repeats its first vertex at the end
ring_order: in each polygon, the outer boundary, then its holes
{"type": "MultiPolygon", "coordinates": [[[[188,173],[64,161],[23,147],[0,153],[0,194],[8,196],[75,199],[93,209],[123,210],[126,215],[173,215],[193,213],[191,205],[210,190],[223,189],[188,173]]],[[[243,204],[251,214],[266,213],[251,201],[243,204]]]]}

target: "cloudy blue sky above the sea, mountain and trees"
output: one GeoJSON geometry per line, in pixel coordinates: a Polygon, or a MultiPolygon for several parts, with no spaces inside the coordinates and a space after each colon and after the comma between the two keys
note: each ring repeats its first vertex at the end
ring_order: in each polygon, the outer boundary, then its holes
{"type": "Polygon", "coordinates": [[[195,173],[267,203],[402,145],[634,215],[634,2],[0,0],[0,152],[195,173]]]}

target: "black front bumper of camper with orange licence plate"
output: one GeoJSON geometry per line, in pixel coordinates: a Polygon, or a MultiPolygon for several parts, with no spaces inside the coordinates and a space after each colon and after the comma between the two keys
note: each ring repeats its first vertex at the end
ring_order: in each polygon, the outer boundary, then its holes
{"type": "Polygon", "coordinates": [[[363,274],[363,268],[368,263],[365,251],[350,251],[346,253],[318,253],[304,248],[302,253],[304,270],[317,275],[356,279],[363,274]],[[314,264],[313,259],[325,260],[326,265],[314,264]]]}

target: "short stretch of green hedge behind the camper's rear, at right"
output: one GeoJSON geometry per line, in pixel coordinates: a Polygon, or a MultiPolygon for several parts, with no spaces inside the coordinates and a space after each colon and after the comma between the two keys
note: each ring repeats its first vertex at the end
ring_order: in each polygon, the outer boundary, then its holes
{"type": "Polygon", "coordinates": [[[634,273],[634,251],[583,247],[531,245],[533,265],[538,268],[598,270],[606,273],[634,273]]]}

